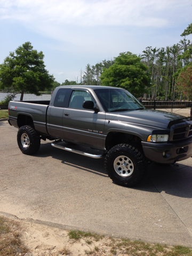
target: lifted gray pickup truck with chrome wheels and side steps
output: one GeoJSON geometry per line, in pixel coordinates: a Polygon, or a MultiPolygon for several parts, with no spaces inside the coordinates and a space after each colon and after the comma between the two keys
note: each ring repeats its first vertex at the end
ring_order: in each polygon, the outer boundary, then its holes
{"type": "Polygon", "coordinates": [[[9,123],[19,129],[23,154],[36,153],[41,139],[49,139],[53,147],[105,156],[109,177],[124,186],[140,182],[148,162],[173,164],[192,156],[190,117],[145,109],[117,87],[59,86],[50,101],[10,101],[9,123]],[[67,147],[69,142],[102,154],[67,147]]]}

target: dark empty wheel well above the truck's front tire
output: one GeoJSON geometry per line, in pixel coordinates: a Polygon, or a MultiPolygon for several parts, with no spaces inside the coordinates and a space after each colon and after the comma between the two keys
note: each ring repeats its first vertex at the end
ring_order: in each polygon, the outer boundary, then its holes
{"type": "Polygon", "coordinates": [[[130,143],[137,148],[142,148],[141,139],[138,136],[123,132],[110,132],[106,138],[106,149],[109,150],[121,143],[130,143]]]}

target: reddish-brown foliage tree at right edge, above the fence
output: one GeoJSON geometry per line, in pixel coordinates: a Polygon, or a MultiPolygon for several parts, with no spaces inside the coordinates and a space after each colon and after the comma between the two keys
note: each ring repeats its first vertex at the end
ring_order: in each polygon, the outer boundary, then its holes
{"type": "Polygon", "coordinates": [[[183,68],[177,79],[178,90],[192,97],[192,66],[183,68]]]}

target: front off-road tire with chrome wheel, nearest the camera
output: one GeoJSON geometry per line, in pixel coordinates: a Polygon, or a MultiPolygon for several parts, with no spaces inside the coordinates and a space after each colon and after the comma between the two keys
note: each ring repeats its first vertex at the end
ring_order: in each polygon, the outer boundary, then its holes
{"type": "Polygon", "coordinates": [[[111,180],[118,185],[131,187],[145,176],[147,161],[137,148],[119,144],[108,151],[105,167],[111,180]]]}

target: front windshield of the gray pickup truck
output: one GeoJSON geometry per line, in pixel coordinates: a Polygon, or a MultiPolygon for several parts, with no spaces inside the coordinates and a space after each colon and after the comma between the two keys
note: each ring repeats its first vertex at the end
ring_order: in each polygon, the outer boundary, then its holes
{"type": "Polygon", "coordinates": [[[94,92],[106,112],[145,109],[145,107],[126,90],[109,88],[95,89],[94,92]]]}

